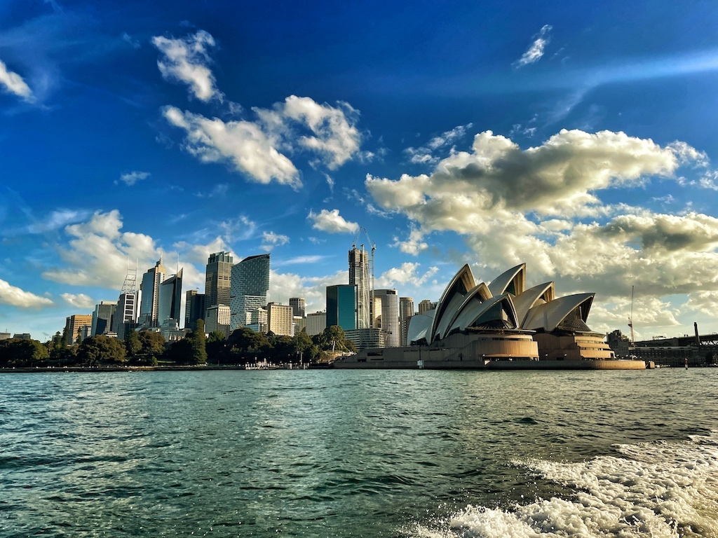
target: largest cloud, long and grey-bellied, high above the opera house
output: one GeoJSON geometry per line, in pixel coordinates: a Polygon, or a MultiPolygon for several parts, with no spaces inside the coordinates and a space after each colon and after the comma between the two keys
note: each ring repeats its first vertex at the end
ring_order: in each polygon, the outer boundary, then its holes
{"type": "Polygon", "coordinates": [[[397,181],[368,176],[376,202],[435,230],[467,232],[500,212],[570,216],[595,212],[600,189],[671,177],[682,156],[671,146],[625,133],[561,130],[541,146],[521,150],[491,131],[471,152],[440,161],[431,175],[397,181]]]}

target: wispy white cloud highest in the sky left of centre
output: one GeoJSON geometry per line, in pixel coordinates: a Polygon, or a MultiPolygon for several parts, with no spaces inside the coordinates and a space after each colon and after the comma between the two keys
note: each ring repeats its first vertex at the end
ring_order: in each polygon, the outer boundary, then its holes
{"type": "Polygon", "coordinates": [[[207,67],[210,63],[209,49],[215,47],[215,39],[208,32],[200,30],[185,38],[152,38],[159,52],[164,55],[157,60],[162,77],[170,82],[184,82],[197,99],[222,100],[223,95],[215,87],[215,77],[207,67]]]}

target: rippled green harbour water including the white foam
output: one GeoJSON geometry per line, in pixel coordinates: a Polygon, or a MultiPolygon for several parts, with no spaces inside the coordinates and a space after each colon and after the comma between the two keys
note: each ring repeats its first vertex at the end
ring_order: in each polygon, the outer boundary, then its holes
{"type": "Polygon", "coordinates": [[[718,537],[718,369],[0,374],[1,537],[718,537]]]}

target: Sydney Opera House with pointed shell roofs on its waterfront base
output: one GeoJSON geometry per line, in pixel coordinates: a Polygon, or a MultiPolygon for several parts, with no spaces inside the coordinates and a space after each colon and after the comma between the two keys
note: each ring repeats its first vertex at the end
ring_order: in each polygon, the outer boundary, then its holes
{"type": "Polygon", "coordinates": [[[643,369],[619,360],[586,321],[594,293],[556,297],[553,282],[526,289],[526,264],[489,284],[469,265],[454,275],[436,308],[413,316],[409,346],[365,349],[337,368],[643,369]]]}

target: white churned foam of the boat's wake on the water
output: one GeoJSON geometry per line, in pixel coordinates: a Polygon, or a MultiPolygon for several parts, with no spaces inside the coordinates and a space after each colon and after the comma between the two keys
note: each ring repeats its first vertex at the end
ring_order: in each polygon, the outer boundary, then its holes
{"type": "Polygon", "coordinates": [[[718,432],[684,442],[617,445],[625,457],[512,462],[576,490],[510,510],[467,506],[420,538],[718,537],[718,432]]]}

